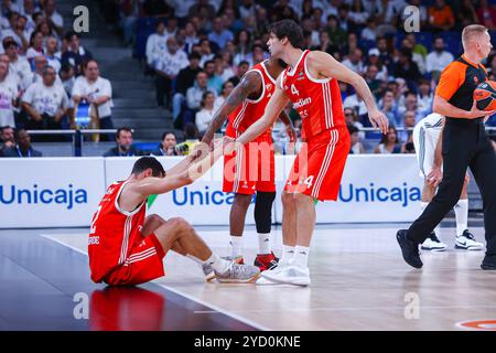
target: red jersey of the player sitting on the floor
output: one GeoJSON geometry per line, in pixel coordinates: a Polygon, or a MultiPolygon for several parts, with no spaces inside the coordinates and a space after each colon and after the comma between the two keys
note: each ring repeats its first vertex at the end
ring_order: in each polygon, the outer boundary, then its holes
{"type": "Polygon", "coordinates": [[[123,265],[132,245],[141,237],[147,207],[143,202],[132,212],[121,210],[118,199],[123,185],[126,181],[108,186],[93,216],[88,256],[95,282],[101,281],[112,269],[123,265]]]}

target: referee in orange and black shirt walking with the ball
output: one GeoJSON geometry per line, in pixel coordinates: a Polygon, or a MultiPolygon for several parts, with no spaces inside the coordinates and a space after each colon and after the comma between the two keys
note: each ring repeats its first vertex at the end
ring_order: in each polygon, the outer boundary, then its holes
{"type": "Polygon", "coordinates": [[[422,267],[419,244],[459,201],[470,167],[484,203],[487,245],[481,267],[496,269],[496,156],[484,128],[485,117],[495,111],[478,110],[473,100],[474,89],[487,79],[481,61],[493,45],[487,29],[479,24],[463,29],[462,43],[464,53],[442,72],[433,103],[434,113],[446,117],[441,142],[441,184],[420,217],[409,229],[400,229],[396,235],[403,259],[416,268],[422,267]]]}

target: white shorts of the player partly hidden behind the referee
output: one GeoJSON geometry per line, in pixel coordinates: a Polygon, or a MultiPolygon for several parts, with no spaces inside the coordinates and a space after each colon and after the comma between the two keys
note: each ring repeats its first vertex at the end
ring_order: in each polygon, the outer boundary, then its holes
{"type": "Polygon", "coordinates": [[[435,147],[443,130],[443,119],[442,115],[432,113],[420,120],[413,129],[413,145],[422,178],[427,178],[432,171],[435,147]]]}

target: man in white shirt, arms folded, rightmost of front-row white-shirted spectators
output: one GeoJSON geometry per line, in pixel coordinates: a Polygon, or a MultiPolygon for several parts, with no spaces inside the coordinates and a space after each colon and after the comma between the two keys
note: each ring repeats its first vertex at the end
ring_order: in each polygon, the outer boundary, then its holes
{"type": "MultiPolygon", "coordinates": [[[[82,100],[97,109],[100,129],[114,129],[111,119],[112,87],[110,82],[100,77],[98,63],[90,60],[84,71],[85,76],[77,77],[71,93],[74,104],[77,106],[82,100]]],[[[103,140],[110,140],[110,136],[104,136],[103,140]]]]}

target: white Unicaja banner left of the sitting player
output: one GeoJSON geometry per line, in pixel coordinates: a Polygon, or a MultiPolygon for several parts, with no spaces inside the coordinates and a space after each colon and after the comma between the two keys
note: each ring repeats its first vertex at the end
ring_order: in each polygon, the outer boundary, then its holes
{"type": "Polygon", "coordinates": [[[87,226],[105,193],[103,158],[2,158],[0,169],[0,228],[87,226]]]}

